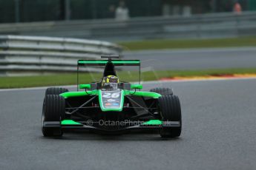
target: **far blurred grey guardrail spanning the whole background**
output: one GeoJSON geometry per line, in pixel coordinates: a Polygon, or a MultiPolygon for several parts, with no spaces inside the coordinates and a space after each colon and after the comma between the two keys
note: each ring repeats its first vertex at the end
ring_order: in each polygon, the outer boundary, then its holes
{"type": "Polygon", "coordinates": [[[148,38],[218,38],[256,35],[256,12],[213,13],[81,21],[47,21],[0,24],[0,34],[47,35],[108,41],[148,38]]]}

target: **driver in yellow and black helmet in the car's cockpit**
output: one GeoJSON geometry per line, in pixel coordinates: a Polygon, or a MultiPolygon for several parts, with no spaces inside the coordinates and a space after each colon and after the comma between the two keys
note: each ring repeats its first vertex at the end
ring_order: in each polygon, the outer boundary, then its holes
{"type": "Polygon", "coordinates": [[[118,88],[119,78],[115,75],[108,75],[102,79],[102,89],[114,91],[118,88]]]}

